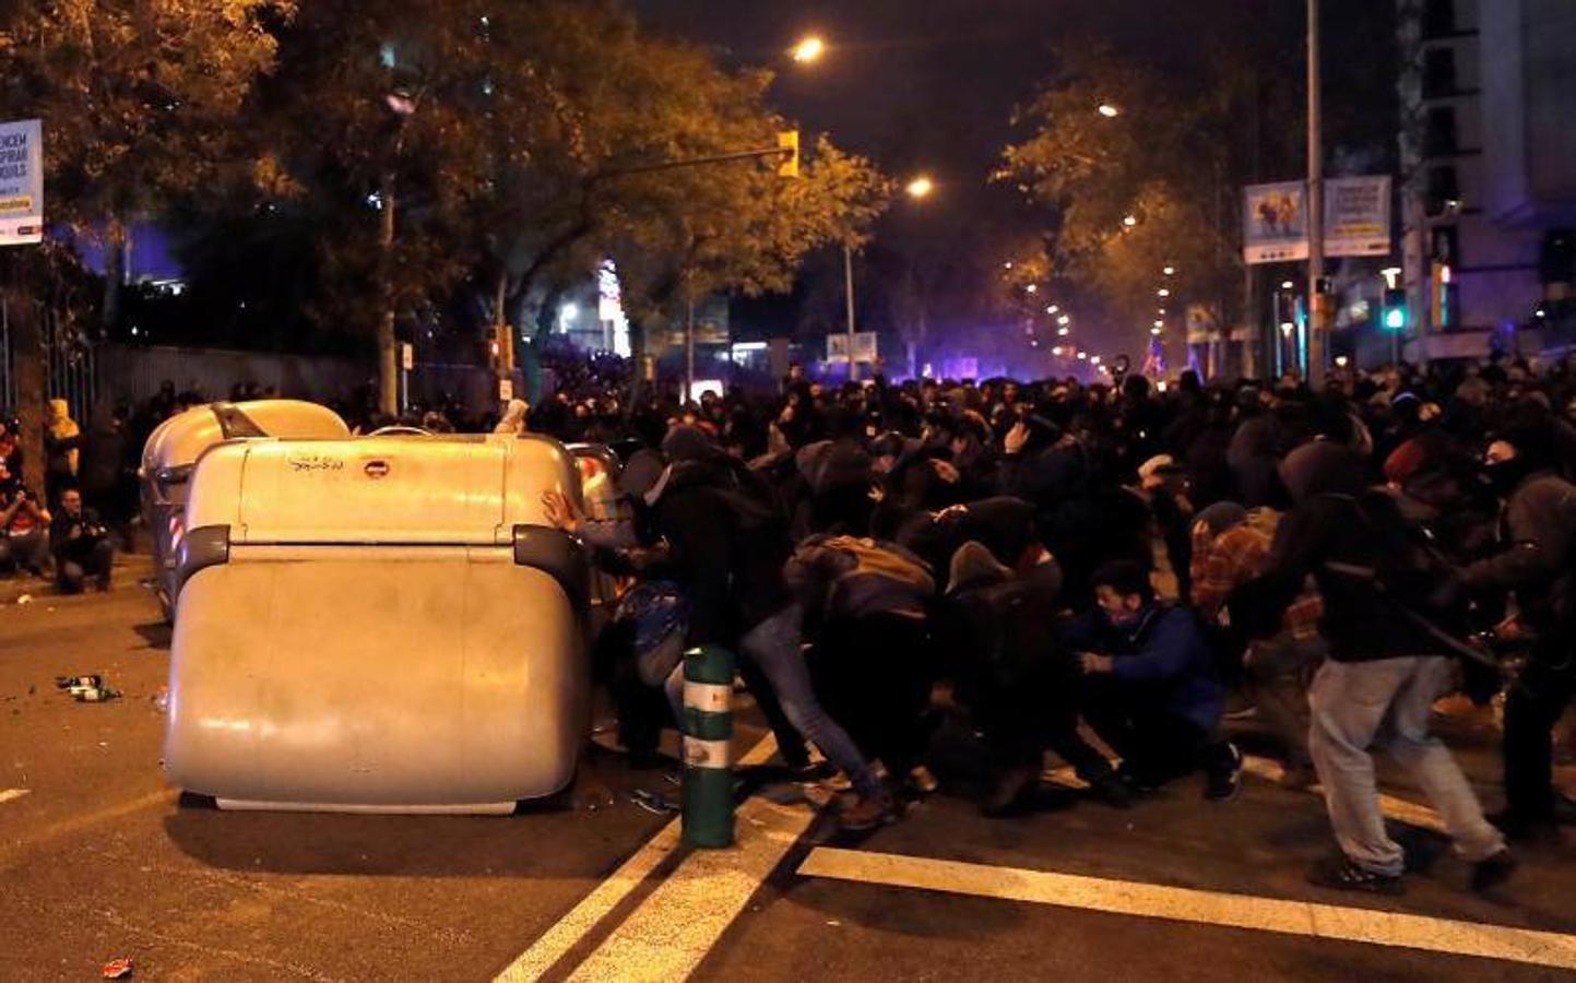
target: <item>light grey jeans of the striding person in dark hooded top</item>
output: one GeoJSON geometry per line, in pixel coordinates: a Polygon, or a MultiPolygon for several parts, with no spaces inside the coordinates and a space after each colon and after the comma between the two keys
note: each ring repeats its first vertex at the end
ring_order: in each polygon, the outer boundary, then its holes
{"type": "Polygon", "coordinates": [[[1434,699],[1448,682],[1450,660],[1436,655],[1329,660],[1313,677],[1308,750],[1335,840],[1365,870],[1399,876],[1406,860],[1379,810],[1368,753],[1376,744],[1422,786],[1466,860],[1485,860],[1505,849],[1505,838],[1483,818],[1456,759],[1428,733],[1434,699]]]}

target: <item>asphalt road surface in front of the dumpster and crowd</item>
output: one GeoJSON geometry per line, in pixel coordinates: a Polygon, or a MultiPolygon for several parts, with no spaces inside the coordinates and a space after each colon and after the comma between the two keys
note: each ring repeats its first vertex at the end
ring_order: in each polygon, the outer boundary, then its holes
{"type": "MultiPolygon", "coordinates": [[[[159,770],[169,633],[137,573],[123,570],[109,595],[0,606],[0,980],[96,978],[117,956],[145,980],[490,980],[539,951],[553,978],[651,978],[670,966],[654,953],[679,950],[693,956],[671,966],[704,980],[1568,978],[1538,964],[1576,934],[1568,849],[1524,851],[1492,898],[1469,895],[1448,855],[1403,898],[1321,892],[1302,881],[1329,849],[1318,797],[1258,778],[1223,805],[1180,783],[1132,811],[1053,794],[1009,821],[941,794],[862,841],[777,789],[786,805],[752,800],[739,849],[709,855],[662,846],[668,818],[627,792],[671,785],[615,755],[588,758],[569,808],[512,818],[181,805],[159,770]],[[68,673],[102,673],[125,696],[77,704],[52,684],[68,673]],[[865,862],[883,857],[913,862],[922,885],[879,882],[865,862]],[[980,882],[966,887],[957,870],[980,882]],[[1035,895],[1039,873],[1075,882],[1035,895]],[[1173,892],[1182,907],[1144,909],[1135,884],[1185,888],[1173,892]],[[1111,892],[1138,907],[1114,914],[1100,900],[1111,892]],[[1198,907],[1220,895],[1226,912],[1341,906],[1377,939],[1225,926],[1198,907]],[[1445,920],[1440,939],[1554,934],[1530,948],[1511,937],[1526,958],[1422,951],[1390,914],[1445,920]]],[[[741,751],[758,737],[744,728],[741,751]]],[[[1497,800],[1492,733],[1455,725],[1451,742],[1497,800]]],[[[1398,777],[1387,783],[1422,802],[1398,777]]]]}

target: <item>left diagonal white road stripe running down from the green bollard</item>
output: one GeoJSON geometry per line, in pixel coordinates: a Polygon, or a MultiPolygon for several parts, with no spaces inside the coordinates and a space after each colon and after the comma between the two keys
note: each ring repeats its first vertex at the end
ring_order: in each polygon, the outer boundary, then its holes
{"type": "MultiPolygon", "coordinates": [[[[755,747],[752,747],[744,758],[739,759],[741,766],[761,764],[777,753],[777,740],[768,734],[755,747]]],[[[753,800],[752,800],[753,803],[753,800]]],[[[747,810],[750,803],[739,810],[739,830],[741,841],[745,838],[745,830],[753,832],[753,824],[749,821],[747,810]]],[[[654,871],[678,846],[679,846],[679,819],[670,821],[657,833],[648,840],[635,854],[626,860],[607,881],[597,885],[594,892],[586,895],[580,904],[569,909],[563,918],[558,920],[553,928],[531,944],[531,948],[520,953],[514,963],[509,964],[496,977],[496,983],[523,983],[525,980],[539,980],[542,974],[553,967],[555,963],[564,958],[569,950],[580,944],[600,922],[611,912],[619,903],[624,901],[637,887],[640,887],[646,877],[654,871]]],[[[690,854],[681,865],[679,871],[690,865],[695,857],[704,855],[720,855],[720,857],[736,857],[736,851],[698,851],[690,854]]],[[[675,871],[675,876],[679,873],[675,871]]],[[[771,873],[771,871],[768,871],[771,873]]],[[[659,888],[660,892],[662,888],[659,888]]],[[[747,895],[745,895],[747,896],[747,895]]],[[[648,900],[649,904],[649,900],[648,900]]],[[[646,904],[635,909],[630,915],[638,917],[646,904]]],[[[626,923],[627,925],[627,923],[626,923]]],[[[611,939],[608,939],[611,942],[611,939]]],[[[608,944],[597,948],[594,956],[604,953],[608,944]]],[[[703,953],[704,955],[704,953],[703,953]]],[[[607,958],[604,955],[604,958],[607,958]]]]}

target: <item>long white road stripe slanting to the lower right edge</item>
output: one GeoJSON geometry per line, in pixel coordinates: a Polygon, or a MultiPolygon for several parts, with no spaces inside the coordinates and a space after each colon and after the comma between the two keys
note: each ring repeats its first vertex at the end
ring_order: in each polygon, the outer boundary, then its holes
{"type": "Polygon", "coordinates": [[[799,874],[1576,969],[1576,936],[1133,881],[816,848],[799,874]]]}

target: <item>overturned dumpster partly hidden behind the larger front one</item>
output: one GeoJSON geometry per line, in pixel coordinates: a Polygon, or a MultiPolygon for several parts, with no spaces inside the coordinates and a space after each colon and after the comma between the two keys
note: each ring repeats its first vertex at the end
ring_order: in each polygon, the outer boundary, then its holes
{"type": "Polygon", "coordinates": [[[153,575],[165,621],[175,618],[175,551],[184,529],[192,465],[221,441],[260,436],[334,440],[350,436],[350,428],[328,406],[252,400],[192,406],[148,435],[142,447],[142,521],[153,539],[153,575]]]}

